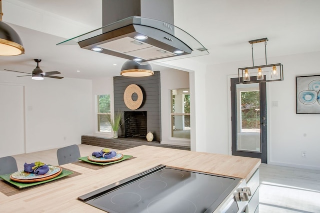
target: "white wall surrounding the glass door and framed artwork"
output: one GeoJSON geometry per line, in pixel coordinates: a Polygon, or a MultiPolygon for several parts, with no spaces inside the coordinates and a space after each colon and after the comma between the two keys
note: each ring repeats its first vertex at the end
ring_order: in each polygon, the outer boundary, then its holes
{"type": "MultiPolygon", "coordinates": [[[[319,75],[317,60],[320,52],[269,58],[268,63],[282,63],[284,81],[267,83],[268,163],[291,167],[320,169],[320,115],[295,113],[295,76],[319,75]],[[278,107],[271,107],[277,101],[278,107]],[[301,157],[306,152],[306,158],[301,157]]],[[[206,72],[207,152],[228,154],[231,149],[229,131],[230,107],[228,75],[237,75],[237,68],[250,61],[209,66],[206,72]],[[214,79],[213,81],[211,79],[214,79]]],[[[255,64],[264,64],[263,60],[255,64]]]]}

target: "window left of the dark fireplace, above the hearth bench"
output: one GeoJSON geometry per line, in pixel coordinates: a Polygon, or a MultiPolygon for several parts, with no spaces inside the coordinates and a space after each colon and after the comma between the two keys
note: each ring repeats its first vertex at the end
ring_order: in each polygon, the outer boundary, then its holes
{"type": "Polygon", "coordinates": [[[107,115],[110,115],[110,95],[97,96],[97,130],[98,132],[111,132],[107,115]]]}

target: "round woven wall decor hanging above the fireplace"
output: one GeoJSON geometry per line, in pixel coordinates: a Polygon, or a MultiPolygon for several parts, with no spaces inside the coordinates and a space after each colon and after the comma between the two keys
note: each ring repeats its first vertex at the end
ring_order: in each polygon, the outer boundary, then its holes
{"type": "Polygon", "coordinates": [[[136,84],[130,84],[124,90],[123,100],[124,100],[124,104],[127,108],[129,108],[131,110],[138,109],[141,106],[142,100],[143,100],[143,93],[142,93],[141,88],[136,84]],[[136,93],[136,95],[137,95],[136,101],[132,100],[132,95],[134,93],[136,93]]]}

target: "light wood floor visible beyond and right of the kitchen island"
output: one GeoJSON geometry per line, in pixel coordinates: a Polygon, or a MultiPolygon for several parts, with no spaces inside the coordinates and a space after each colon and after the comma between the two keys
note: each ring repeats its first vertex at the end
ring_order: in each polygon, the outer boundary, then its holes
{"type": "MultiPolygon", "coordinates": [[[[80,144],[81,156],[102,147],[80,144]]],[[[117,150],[115,150],[117,151],[117,150]]],[[[18,169],[41,161],[57,165],[56,149],[13,156],[18,169]]],[[[320,171],[261,164],[259,213],[320,213],[320,171]]]]}

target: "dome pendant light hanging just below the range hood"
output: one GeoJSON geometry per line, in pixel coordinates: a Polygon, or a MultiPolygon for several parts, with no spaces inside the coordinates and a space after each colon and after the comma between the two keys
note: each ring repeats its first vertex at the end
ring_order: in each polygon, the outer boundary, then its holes
{"type": "Polygon", "coordinates": [[[120,74],[127,77],[146,77],[153,75],[154,72],[149,63],[141,65],[136,61],[127,60],[122,65],[120,74]]]}

